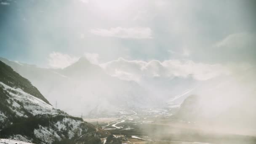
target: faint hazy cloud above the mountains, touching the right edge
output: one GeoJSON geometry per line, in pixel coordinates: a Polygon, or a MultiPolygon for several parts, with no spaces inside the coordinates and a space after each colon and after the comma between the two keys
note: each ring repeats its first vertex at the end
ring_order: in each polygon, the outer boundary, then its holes
{"type": "Polygon", "coordinates": [[[256,36],[247,32],[228,35],[216,44],[218,48],[252,48],[256,45],[256,36]]]}

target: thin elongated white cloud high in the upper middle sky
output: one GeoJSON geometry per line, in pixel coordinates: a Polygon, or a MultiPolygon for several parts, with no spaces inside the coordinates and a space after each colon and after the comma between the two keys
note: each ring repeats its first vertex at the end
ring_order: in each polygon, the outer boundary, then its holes
{"type": "Polygon", "coordinates": [[[91,33],[102,37],[119,37],[132,39],[152,38],[152,30],[149,27],[115,27],[110,29],[91,29],[91,33]]]}

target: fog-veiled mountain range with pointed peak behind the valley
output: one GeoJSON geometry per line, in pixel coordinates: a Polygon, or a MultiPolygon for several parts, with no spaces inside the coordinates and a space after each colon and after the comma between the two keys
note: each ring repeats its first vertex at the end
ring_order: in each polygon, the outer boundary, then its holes
{"type": "Polygon", "coordinates": [[[168,99],[197,84],[196,80],[179,77],[165,80],[144,77],[141,83],[120,80],[84,57],[64,69],[0,60],[29,79],[51,104],[57,103],[58,108],[72,115],[87,115],[96,107],[95,117],[103,113],[115,115],[117,107],[168,107],[168,99]]]}

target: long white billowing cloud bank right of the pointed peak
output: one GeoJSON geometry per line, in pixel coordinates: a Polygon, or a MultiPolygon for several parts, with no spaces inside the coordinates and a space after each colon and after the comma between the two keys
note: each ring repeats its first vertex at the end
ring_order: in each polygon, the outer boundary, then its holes
{"type": "Polygon", "coordinates": [[[141,77],[193,77],[208,80],[220,75],[229,75],[229,70],[221,64],[195,63],[191,60],[129,61],[119,58],[101,64],[109,75],[122,80],[139,81],[141,77]]]}

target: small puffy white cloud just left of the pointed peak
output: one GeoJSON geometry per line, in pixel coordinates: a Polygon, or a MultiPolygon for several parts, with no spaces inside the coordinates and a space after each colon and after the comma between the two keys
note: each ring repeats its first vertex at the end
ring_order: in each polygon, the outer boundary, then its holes
{"type": "Polygon", "coordinates": [[[65,68],[78,61],[78,59],[78,57],[71,57],[68,54],[53,51],[49,54],[48,65],[52,68],[65,68]]]}

